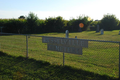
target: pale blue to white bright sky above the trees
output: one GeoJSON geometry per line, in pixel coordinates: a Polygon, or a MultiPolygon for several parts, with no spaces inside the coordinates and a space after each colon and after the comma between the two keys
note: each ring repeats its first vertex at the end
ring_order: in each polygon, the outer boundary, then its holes
{"type": "Polygon", "coordinates": [[[113,14],[120,20],[120,0],[0,0],[0,18],[18,18],[33,12],[39,19],[61,16],[65,20],[88,16],[101,20],[113,14]]]}

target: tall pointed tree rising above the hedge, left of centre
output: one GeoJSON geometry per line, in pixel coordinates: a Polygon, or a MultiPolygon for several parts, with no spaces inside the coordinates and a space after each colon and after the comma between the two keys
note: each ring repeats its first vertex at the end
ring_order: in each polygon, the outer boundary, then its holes
{"type": "Polygon", "coordinates": [[[36,31],[36,26],[38,22],[38,17],[34,13],[30,12],[26,18],[27,20],[27,30],[29,33],[34,33],[36,31]]]}

